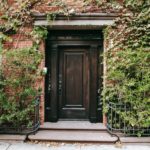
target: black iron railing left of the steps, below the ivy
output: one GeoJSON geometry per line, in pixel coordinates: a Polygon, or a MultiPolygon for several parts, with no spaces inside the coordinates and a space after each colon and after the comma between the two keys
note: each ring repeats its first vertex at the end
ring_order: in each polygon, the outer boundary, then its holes
{"type": "Polygon", "coordinates": [[[0,134],[25,134],[25,135],[28,135],[28,134],[36,132],[40,126],[39,102],[40,102],[40,97],[37,97],[35,100],[34,110],[30,114],[30,118],[32,121],[31,126],[22,124],[18,127],[18,126],[9,124],[9,123],[0,124],[0,134]]]}

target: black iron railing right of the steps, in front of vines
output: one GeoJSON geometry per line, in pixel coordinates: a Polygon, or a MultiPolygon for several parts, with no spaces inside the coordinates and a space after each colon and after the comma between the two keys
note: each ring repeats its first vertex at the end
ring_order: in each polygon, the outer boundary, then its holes
{"type": "Polygon", "coordinates": [[[150,127],[131,126],[120,115],[121,113],[128,115],[127,112],[131,111],[130,106],[126,104],[109,103],[108,109],[107,129],[112,134],[118,136],[150,136],[150,127]]]}

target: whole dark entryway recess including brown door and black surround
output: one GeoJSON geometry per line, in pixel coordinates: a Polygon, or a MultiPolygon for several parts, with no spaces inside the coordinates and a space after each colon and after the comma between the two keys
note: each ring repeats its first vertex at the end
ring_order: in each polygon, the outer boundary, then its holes
{"type": "Polygon", "coordinates": [[[49,31],[45,121],[102,121],[102,32],[49,31]]]}

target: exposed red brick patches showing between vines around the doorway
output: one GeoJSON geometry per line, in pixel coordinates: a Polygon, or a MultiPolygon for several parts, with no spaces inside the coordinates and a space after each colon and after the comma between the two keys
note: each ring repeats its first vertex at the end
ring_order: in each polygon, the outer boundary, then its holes
{"type": "MultiPolygon", "coordinates": [[[[50,3],[53,0],[44,0],[42,2],[37,3],[34,8],[32,9],[33,13],[50,13],[50,12],[61,12],[62,8],[59,6],[51,6],[50,3]]],[[[105,1],[105,0],[104,0],[105,1]]],[[[118,0],[120,3],[123,0],[118,0]]],[[[87,5],[83,0],[62,0],[62,2],[67,6],[68,12],[76,12],[76,13],[108,13],[108,12],[114,12],[112,7],[98,7],[94,1],[91,3],[92,5],[87,5]]],[[[9,4],[13,5],[14,0],[9,0],[9,4]]],[[[19,34],[15,34],[12,36],[13,41],[5,43],[4,46],[7,48],[23,48],[23,47],[31,47],[32,46],[32,40],[30,37],[26,36],[24,34],[26,32],[31,32],[32,27],[26,27],[25,29],[21,30],[19,34]]],[[[106,47],[107,43],[104,44],[106,47]]],[[[45,54],[45,42],[43,41],[40,44],[40,50],[43,54],[45,54]]],[[[44,57],[45,58],[45,57],[44,57]]],[[[104,64],[105,65],[105,64],[104,64]]],[[[45,59],[41,62],[41,68],[45,66],[45,59]]],[[[105,67],[104,67],[105,68],[105,67]]],[[[105,70],[104,70],[105,72],[105,70]]],[[[44,77],[43,79],[38,83],[38,86],[42,87],[42,94],[41,94],[41,102],[40,102],[40,121],[41,124],[44,123],[44,101],[45,101],[45,93],[44,93],[44,87],[45,87],[45,81],[44,77]]],[[[104,116],[104,123],[106,123],[106,118],[104,116]]]]}

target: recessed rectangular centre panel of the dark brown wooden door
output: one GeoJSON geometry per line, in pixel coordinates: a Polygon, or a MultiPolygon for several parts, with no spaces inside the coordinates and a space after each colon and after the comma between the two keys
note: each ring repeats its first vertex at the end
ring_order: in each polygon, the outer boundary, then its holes
{"type": "Polygon", "coordinates": [[[67,52],[64,58],[65,101],[63,106],[82,106],[84,56],[82,53],[67,52]]]}

